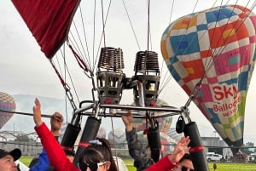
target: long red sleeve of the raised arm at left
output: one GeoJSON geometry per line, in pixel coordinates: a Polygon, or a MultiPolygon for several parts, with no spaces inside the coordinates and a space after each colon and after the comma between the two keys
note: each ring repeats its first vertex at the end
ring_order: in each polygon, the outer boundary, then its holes
{"type": "Polygon", "coordinates": [[[41,143],[47,153],[49,162],[56,170],[79,171],[72,162],[69,162],[61,145],[55,140],[55,137],[51,134],[45,123],[35,127],[35,130],[41,139],[41,143]]]}

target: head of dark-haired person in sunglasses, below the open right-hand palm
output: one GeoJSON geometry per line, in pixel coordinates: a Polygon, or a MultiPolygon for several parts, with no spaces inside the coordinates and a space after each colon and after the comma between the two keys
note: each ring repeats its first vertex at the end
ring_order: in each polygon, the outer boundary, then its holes
{"type": "Polygon", "coordinates": [[[185,154],[179,161],[173,171],[194,171],[192,158],[189,154],[185,154]]]}

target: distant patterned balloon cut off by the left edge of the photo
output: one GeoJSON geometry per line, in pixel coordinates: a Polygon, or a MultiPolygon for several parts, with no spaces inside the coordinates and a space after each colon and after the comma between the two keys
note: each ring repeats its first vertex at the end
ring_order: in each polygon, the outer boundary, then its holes
{"type": "Polygon", "coordinates": [[[0,129],[13,117],[14,113],[5,111],[15,111],[16,105],[14,98],[6,93],[0,92],[0,129]]]}

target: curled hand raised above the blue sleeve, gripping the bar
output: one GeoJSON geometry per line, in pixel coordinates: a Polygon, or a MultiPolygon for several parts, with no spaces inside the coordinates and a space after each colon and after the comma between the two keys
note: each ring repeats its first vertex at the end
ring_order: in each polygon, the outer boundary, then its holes
{"type": "Polygon", "coordinates": [[[55,113],[50,117],[50,129],[55,136],[59,136],[59,131],[63,122],[63,117],[60,112],[55,113]]]}

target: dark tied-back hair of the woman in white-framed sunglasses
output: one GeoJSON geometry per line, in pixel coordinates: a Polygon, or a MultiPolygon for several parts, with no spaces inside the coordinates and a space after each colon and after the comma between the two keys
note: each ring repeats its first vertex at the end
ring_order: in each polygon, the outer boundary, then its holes
{"type": "Polygon", "coordinates": [[[87,146],[79,157],[79,162],[97,163],[111,162],[108,170],[117,171],[116,164],[113,160],[110,144],[104,138],[97,138],[102,144],[93,143],[87,146]]]}

